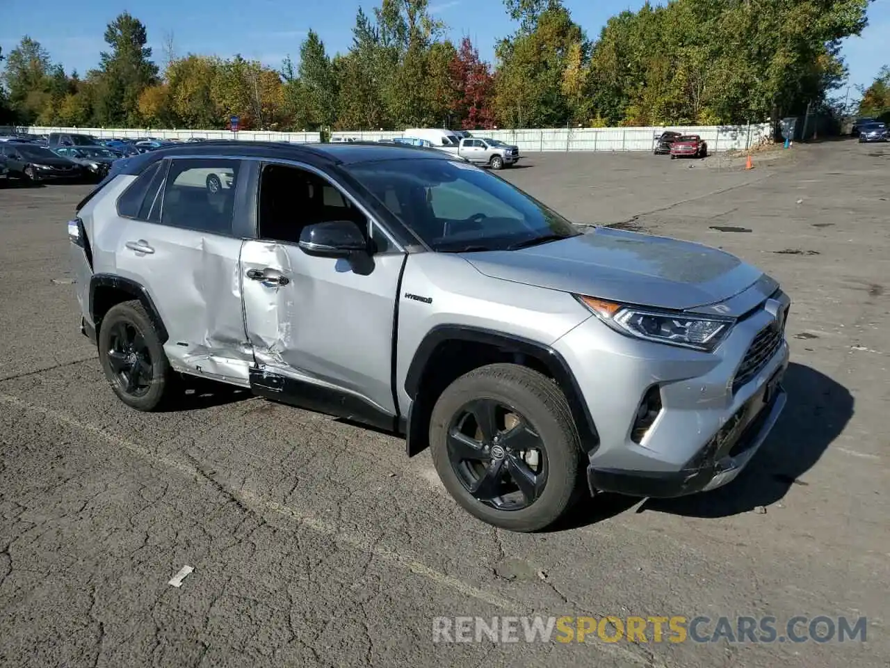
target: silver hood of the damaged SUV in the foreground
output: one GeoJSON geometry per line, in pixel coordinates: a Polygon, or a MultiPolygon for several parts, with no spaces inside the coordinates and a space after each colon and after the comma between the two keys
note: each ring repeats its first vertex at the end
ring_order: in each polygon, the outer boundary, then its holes
{"type": "Polygon", "coordinates": [[[461,256],[492,278],[677,310],[723,301],[763,276],[716,248],[604,227],[530,248],[461,256]]]}

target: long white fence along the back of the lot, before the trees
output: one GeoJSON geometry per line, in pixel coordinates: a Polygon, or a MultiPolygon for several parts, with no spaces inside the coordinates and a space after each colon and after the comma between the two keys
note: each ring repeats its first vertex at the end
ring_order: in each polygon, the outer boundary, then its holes
{"type": "MultiPolygon", "coordinates": [[[[0,127],[0,133],[15,128],[0,127]]],[[[744,151],[756,143],[769,140],[773,128],[769,123],[745,126],[665,126],[665,127],[578,127],[554,128],[545,130],[477,130],[476,136],[499,139],[515,144],[520,151],[651,151],[655,137],[664,130],[698,134],[708,143],[708,152],[744,151]]],[[[152,130],[146,128],[115,129],[101,127],[22,127],[20,132],[29,134],[50,134],[52,132],[93,134],[97,137],[158,137],[164,139],[205,139],[238,138],[248,142],[319,142],[317,132],[263,132],[242,130],[232,133],[228,130],[152,130]]],[[[378,139],[392,139],[404,136],[402,132],[356,131],[335,132],[333,136],[352,138],[357,141],[376,142],[378,139]]]]}

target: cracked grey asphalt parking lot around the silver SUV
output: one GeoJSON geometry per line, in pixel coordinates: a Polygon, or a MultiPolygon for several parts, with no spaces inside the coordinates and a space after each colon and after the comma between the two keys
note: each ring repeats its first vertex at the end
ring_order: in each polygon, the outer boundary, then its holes
{"type": "Polygon", "coordinates": [[[789,403],[739,479],[510,534],[393,436],[206,388],[132,411],[78,330],[88,187],[0,186],[0,665],[886,666],[890,147],[524,162],[502,174],[572,219],[725,248],[792,297],[789,403]],[[433,643],[451,615],[864,616],[867,642],[433,643]]]}

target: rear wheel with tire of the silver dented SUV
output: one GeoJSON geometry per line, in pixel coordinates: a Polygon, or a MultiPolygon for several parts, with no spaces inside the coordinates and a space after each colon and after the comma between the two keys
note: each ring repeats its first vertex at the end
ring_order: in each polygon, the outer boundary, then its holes
{"type": "Polygon", "coordinates": [[[169,395],[174,372],[158,331],[139,300],[112,306],[99,330],[99,361],[117,398],[154,411],[169,395]]]}

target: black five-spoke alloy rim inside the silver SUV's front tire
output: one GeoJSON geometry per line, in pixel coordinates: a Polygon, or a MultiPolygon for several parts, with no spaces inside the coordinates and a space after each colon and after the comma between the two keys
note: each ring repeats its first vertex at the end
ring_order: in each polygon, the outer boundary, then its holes
{"type": "Polygon", "coordinates": [[[512,406],[474,399],[451,421],[449,460],[467,492],[501,510],[527,508],[544,490],[547,462],[541,437],[512,406]]]}

